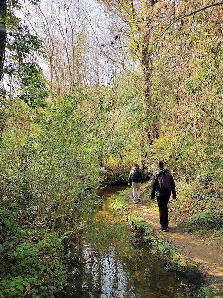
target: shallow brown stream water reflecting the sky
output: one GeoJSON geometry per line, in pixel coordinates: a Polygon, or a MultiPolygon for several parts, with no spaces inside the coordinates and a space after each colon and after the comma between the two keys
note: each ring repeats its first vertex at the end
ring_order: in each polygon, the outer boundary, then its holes
{"type": "Polygon", "coordinates": [[[61,298],[186,297],[182,281],[165,269],[112,209],[112,200],[124,188],[96,190],[106,200],[102,204],[89,200],[80,210],[84,228],[69,245],[69,282],[61,298]]]}

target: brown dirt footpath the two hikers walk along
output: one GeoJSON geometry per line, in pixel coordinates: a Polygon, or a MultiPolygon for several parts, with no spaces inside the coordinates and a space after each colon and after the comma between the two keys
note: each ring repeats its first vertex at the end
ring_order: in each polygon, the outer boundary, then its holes
{"type": "MultiPolygon", "coordinates": [[[[159,231],[159,209],[154,204],[132,203],[132,192],[127,193],[127,203],[137,211],[155,230],[159,231]]],[[[170,220],[168,232],[163,237],[178,246],[180,253],[198,262],[203,272],[207,273],[210,286],[223,292],[223,250],[213,240],[197,234],[187,233],[170,220]]]]}

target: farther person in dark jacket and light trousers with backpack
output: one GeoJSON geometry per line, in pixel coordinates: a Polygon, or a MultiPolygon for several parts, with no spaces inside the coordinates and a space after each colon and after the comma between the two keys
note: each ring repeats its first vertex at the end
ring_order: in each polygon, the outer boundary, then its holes
{"type": "Polygon", "coordinates": [[[140,170],[137,163],[133,164],[133,168],[130,171],[129,177],[128,177],[128,185],[132,184],[133,188],[133,203],[136,204],[136,200],[138,198],[138,202],[141,202],[140,200],[140,185],[143,184],[143,173],[140,170]]]}

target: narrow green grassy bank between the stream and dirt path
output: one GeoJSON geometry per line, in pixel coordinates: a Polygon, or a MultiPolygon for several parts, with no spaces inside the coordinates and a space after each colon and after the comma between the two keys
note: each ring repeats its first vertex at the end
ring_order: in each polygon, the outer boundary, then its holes
{"type": "MultiPolygon", "coordinates": [[[[134,232],[138,234],[146,244],[152,247],[153,251],[159,259],[166,264],[169,270],[174,271],[190,282],[191,292],[194,293],[195,289],[198,289],[204,281],[198,265],[181,255],[177,247],[167,242],[161,234],[156,233],[137,212],[130,210],[130,205],[126,203],[125,199],[127,192],[129,192],[129,189],[126,189],[118,195],[112,203],[113,208],[129,222],[134,232]]],[[[196,291],[196,296],[199,298],[217,297],[207,288],[201,288],[199,293],[196,291]]]]}

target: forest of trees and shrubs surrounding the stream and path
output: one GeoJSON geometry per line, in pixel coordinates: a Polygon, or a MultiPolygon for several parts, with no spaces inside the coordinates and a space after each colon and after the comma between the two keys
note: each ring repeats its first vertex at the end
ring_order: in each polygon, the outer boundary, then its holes
{"type": "Polygon", "coordinates": [[[223,2],[4,0],[0,13],[0,295],[62,288],[75,210],[133,162],[151,176],[163,160],[172,216],[221,244],[223,2]]]}

